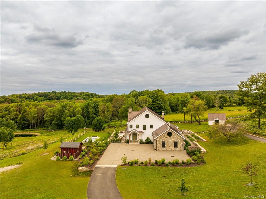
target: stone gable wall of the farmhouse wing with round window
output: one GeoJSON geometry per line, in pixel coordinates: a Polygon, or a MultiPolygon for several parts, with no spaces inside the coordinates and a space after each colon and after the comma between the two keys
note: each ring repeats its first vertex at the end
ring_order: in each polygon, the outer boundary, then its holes
{"type": "MultiPolygon", "coordinates": [[[[158,138],[156,138],[157,142],[157,151],[183,151],[184,150],[184,139],[177,135],[172,130],[169,130],[165,132],[164,134],[160,135],[158,138]],[[168,132],[172,132],[172,136],[169,137],[167,135],[168,132]],[[165,142],[165,148],[162,148],[162,142],[165,142]],[[177,142],[177,148],[174,148],[174,142],[177,142]]],[[[156,148],[156,143],[154,145],[156,148]]]]}

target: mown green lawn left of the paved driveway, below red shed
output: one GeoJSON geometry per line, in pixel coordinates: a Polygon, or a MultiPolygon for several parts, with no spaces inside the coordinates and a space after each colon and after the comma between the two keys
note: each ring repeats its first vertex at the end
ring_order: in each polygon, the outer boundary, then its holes
{"type": "MultiPolygon", "coordinates": [[[[70,138],[69,138],[70,139],[70,138]]],[[[16,162],[22,166],[1,173],[1,198],[87,198],[89,177],[70,177],[74,161],[54,161],[59,142],[50,144],[47,153],[39,149],[1,160],[1,167],[16,162]]]]}

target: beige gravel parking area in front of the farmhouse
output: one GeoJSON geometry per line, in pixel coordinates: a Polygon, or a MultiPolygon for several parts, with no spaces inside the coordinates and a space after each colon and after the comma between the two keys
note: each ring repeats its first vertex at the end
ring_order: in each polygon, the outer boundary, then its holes
{"type": "Polygon", "coordinates": [[[189,156],[186,151],[155,151],[153,144],[126,144],[126,143],[111,143],[104,152],[97,165],[120,165],[123,155],[127,156],[127,160],[139,159],[139,161],[165,158],[165,161],[172,161],[179,159],[179,161],[186,160],[189,156]],[[174,157],[171,157],[174,156],[174,157]]]}

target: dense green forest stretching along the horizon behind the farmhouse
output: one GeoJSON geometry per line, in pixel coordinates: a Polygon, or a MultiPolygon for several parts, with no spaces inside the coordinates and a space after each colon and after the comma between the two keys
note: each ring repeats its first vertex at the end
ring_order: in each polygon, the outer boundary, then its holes
{"type": "MultiPolygon", "coordinates": [[[[91,127],[97,117],[110,124],[127,117],[133,111],[148,106],[158,114],[185,113],[191,99],[200,100],[206,108],[238,106],[244,100],[237,90],[164,93],[163,90],[133,90],[128,94],[99,95],[89,92],[38,92],[1,96],[1,121],[13,121],[17,129],[49,128],[60,130],[72,122],[78,128],[91,127]]],[[[197,120],[197,118],[195,118],[197,120]]],[[[70,125],[71,126],[71,125],[70,125]]],[[[108,125],[109,126],[109,125],[108,125]]]]}

